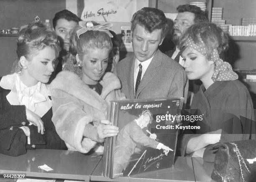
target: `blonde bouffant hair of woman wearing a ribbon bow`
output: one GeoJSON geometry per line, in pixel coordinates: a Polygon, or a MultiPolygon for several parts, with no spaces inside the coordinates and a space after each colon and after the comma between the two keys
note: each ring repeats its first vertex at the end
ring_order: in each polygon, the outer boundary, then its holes
{"type": "MultiPolygon", "coordinates": [[[[97,25],[93,22],[93,25],[97,25]]],[[[87,53],[90,48],[109,48],[113,47],[110,36],[103,32],[97,30],[87,30],[85,33],[81,34],[79,38],[77,37],[77,30],[81,29],[79,25],[74,28],[70,36],[70,46],[69,52],[71,56],[79,55],[79,58],[83,58],[84,54],[87,53]]],[[[76,60],[73,59],[76,63],[76,60]]],[[[74,64],[75,64],[74,63],[74,64]]]]}

